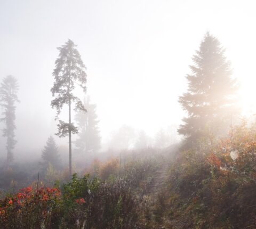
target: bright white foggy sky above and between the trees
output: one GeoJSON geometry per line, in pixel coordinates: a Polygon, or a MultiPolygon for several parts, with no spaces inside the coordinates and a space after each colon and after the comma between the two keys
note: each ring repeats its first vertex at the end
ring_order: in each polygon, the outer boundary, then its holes
{"type": "Polygon", "coordinates": [[[97,104],[103,140],[123,124],[151,135],[180,124],[178,96],[208,30],[227,48],[244,110],[256,111],[255,6],[234,0],[0,0],[0,79],[19,80],[17,137],[25,136],[19,144],[43,146],[54,133],[51,74],[56,47],[68,38],[87,67],[87,93],[97,104]]]}

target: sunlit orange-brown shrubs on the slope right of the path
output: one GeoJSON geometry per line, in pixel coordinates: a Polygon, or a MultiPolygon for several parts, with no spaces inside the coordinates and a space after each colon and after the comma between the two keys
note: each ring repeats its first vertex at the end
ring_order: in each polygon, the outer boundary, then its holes
{"type": "Polygon", "coordinates": [[[214,146],[179,153],[157,202],[160,219],[184,228],[256,227],[255,136],[255,124],[243,122],[214,146]]]}

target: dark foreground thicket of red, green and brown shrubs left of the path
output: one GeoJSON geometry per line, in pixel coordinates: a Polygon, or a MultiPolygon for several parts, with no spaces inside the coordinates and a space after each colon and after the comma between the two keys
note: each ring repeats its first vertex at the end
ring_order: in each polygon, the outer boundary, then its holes
{"type": "Polygon", "coordinates": [[[136,228],[139,200],[127,182],[107,184],[74,174],[61,190],[27,187],[6,195],[0,200],[0,227],[136,228]]]}

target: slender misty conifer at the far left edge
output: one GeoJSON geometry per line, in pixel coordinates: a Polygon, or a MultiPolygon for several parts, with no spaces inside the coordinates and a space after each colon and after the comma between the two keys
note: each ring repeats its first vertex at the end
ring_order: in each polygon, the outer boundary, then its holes
{"type": "Polygon", "coordinates": [[[13,160],[13,149],[17,141],[15,140],[14,130],[15,126],[15,103],[19,102],[17,92],[19,86],[17,79],[13,76],[6,76],[0,87],[0,105],[3,108],[3,118],[1,121],[5,122],[5,128],[3,129],[3,136],[7,138],[6,150],[7,150],[7,166],[13,160]]]}

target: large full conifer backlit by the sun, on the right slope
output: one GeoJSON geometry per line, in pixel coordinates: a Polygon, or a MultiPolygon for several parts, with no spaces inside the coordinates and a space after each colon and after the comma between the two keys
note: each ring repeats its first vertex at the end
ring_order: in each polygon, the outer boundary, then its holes
{"type": "Polygon", "coordinates": [[[178,132],[186,137],[187,146],[195,145],[206,134],[211,138],[227,133],[231,119],[238,113],[236,80],[231,77],[224,54],[219,40],[207,32],[193,56],[194,66],[187,75],[188,91],[179,98],[188,117],[178,132]]]}

